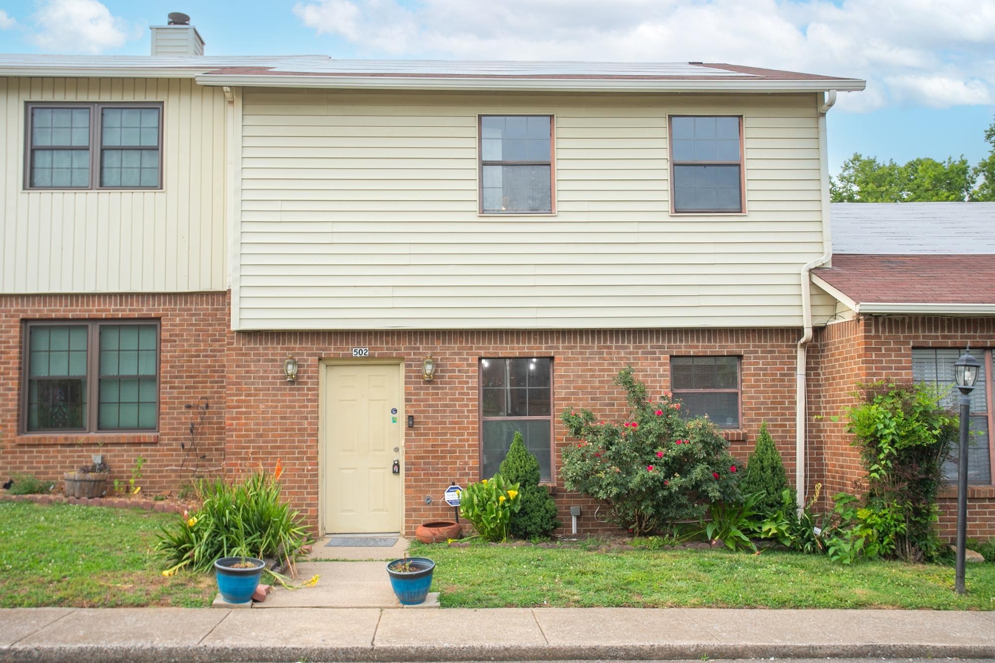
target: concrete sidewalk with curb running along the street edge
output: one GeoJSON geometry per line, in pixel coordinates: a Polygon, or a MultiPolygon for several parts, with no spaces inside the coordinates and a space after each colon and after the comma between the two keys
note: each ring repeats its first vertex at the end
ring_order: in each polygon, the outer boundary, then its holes
{"type": "Polygon", "coordinates": [[[13,608],[3,661],[995,657],[995,612],[13,608]]]}

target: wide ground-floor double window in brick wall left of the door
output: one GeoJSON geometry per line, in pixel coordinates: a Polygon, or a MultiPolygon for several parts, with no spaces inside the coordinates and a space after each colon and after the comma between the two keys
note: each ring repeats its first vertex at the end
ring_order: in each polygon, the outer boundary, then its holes
{"type": "Polygon", "coordinates": [[[158,323],[32,322],[25,335],[25,432],[157,429],[158,323]]]}

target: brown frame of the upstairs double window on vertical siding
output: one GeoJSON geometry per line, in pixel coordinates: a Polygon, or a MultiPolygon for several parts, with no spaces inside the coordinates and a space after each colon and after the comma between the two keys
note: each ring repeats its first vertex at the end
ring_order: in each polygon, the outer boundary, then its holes
{"type": "MultiPolygon", "coordinates": [[[[163,185],[163,124],[165,123],[165,105],[162,102],[28,102],[24,113],[24,190],[25,191],[161,191],[163,185]],[[90,182],[87,186],[32,186],[31,184],[31,152],[32,144],[32,110],[35,109],[87,109],[90,110],[90,145],[40,145],[39,149],[89,149],[90,150],[90,182]],[[102,186],[100,185],[100,128],[102,125],[100,110],[103,109],[158,109],[159,110],[159,183],[155,186],[102,186]]],[[[149,149],[147,145],[107,145],[109,149],[149,149]]]]}

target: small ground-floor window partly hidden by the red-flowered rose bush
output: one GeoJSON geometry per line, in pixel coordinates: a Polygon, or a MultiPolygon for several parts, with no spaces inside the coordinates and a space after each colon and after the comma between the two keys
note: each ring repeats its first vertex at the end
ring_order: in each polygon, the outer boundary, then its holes
{"type": "Polygon", "coordinates": [[[671,392],[686,416],[707,415],[719,428],[739,427],[739,357],[672,356],[671,392]]]}

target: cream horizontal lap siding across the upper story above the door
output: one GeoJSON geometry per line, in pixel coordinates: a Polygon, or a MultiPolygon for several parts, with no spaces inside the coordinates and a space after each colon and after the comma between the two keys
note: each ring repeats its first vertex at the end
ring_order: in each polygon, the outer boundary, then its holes
{"type": "Polygon", "coordinates": [[[244,89],[233,324],[799,326],[816,101],[244,89]],[[555,215],[478,214],[479,113],[554,115],[555,215]],[[669,114],[744,115],[746,214],[670,213],[669,114]]]}

